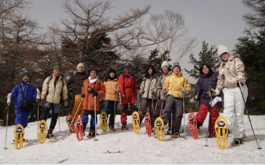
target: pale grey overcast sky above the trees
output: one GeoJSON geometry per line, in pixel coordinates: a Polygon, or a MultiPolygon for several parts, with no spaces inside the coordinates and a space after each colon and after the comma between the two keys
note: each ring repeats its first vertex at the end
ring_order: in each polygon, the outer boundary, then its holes
{"type": "MultiPolygon", "coordinates": [[[[89,1],[88,2],[95,2],[89,1]]],[[[67,17],[62,9],[64,0],[31,0],[32,9],[27,14],[32,19],[37,19],[42,27],[51,23],[60,24],[62,18],[67,17]]],[[[180,13],[189,29],[188,36],[196,37],[197,46],[192,53],[197,55],[201,50],[202,41],[209,45],[226,45],[232,52],[237,38],[245,36],[243,31],[247,27],[243,14],[250,12],[242,0],[112,0],[114,15],[129,11],[130,8],[142,8],[151,4],[150,14],[161,14],[165,10],[180,13]]],[[[180,65],[191,69],[187,63],[189,54],[182,58],[180,65]]],[[[171,56],[172,61],[174,57],[171,56]]]]}

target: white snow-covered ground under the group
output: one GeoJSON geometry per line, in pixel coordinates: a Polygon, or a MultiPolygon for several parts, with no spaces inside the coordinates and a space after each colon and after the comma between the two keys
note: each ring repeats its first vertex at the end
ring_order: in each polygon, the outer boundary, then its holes
{"type": "MultiPolygon", "coordinates": [[[[185,126],[187,126],[186,114],[185,126]]],[[[220,114],[222,115],[222,114],[220,114]]],[[[98,115],[99,116],[99,115],[98,115]]],[[[231,134],[228,136],[229,145],[220,150],[216,145],[216,138],[208,138],[206,147],[206,134],[208,117],[201,127],[199,139],[193,139],[187,129],[188,138],[172,139],[166,136],[161,142],[155,137],[148,137],[145,133],[144,123],[140,135],[131,129],[131,116],[127,116],[128,131],[121,131],[120,115],[116,115],[116,131],[102,132],[99,123],[95,138],[87,138],[78,142],[75,133],[67,132],[65,116],[60,117],[55,128],[55,140],[46,140],[45,144],[37,142],[37,122],[29,123],[25,128],[24,143],[20,150],[11,144],[15,126],[8,127],[7,147],[5,150],[6,127],[0,127],[0,164],[265,164],[265,116],[250,116],[259,147],[252,133],[248,116],[245,115],[245,129],[247,138],[245,145],[232,147],[231,134]],[[107,151],[114,153],[105,153],[107,151]]],[[[49,126],[50,119],[47,120],[49,126]]],[[[87,129],[88,130],[88,129],[87,129]]]]}

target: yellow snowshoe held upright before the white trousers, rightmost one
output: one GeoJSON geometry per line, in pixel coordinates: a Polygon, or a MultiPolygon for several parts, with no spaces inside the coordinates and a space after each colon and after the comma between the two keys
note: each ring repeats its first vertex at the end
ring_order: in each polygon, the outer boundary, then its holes
{"type": "Polygon", "coordinates": [[[224,150],[227,146],[228,124],[225,116],[219,116],[215,122],[217,146],[224,150]]]}

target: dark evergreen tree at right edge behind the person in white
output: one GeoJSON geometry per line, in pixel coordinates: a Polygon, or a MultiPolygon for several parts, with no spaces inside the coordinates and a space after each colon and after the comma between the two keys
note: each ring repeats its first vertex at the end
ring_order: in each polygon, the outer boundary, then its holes
{"type": "Polygon", "coordinates": [[[265,114],[265,32],[251,33],[245,30],[246,37],[240,37],[235,52],[241,55],[245,64],[248,86],[247,105],[252,114],[265,114]]]}

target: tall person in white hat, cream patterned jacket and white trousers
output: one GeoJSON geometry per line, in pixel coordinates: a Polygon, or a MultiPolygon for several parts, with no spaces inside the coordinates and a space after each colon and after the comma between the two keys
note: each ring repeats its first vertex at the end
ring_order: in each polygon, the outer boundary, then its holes
{"type": "Polygon", "coordinates": [[[244,100],[247,100],[248,88],[246,85],[245,65],[239,55],[230,56],[224,45],[218,46],[218,56],[221,59],[216,89],[211,89],[209,95],[215,96],[223,90],[224,113],[228,122],[229,131],[234,141],[244,137],[244,100]],[[244,96],[244,100],[241,94],[244,96]]]}

